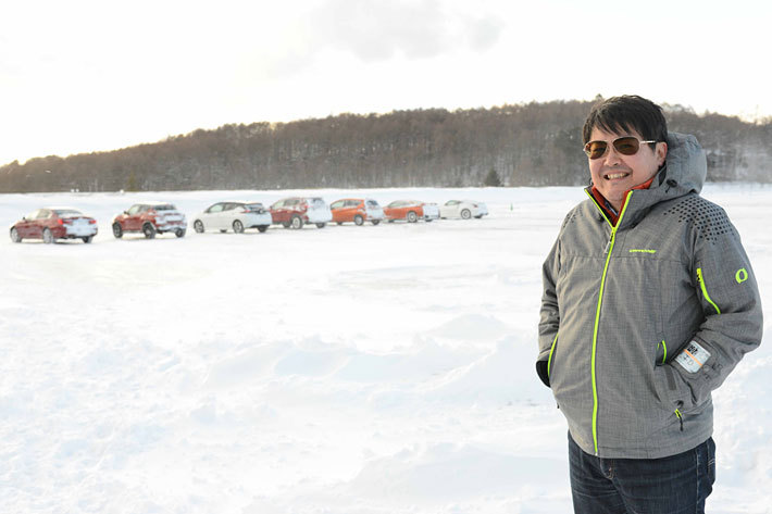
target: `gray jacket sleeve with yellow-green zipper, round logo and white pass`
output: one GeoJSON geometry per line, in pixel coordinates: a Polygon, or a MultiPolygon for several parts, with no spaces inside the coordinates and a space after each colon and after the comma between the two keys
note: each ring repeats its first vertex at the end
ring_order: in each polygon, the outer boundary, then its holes
{"type": "Polygon", "coordinates": [[[668,366],[675,376],[676,408],[707,400],[743,355],[761,343],[762,311],[756,276],[739,235],[724,211],[697,228],[693,273],[703,321],[668,366]],[[683,405],[680,403],[683,402],[683,405]]]}

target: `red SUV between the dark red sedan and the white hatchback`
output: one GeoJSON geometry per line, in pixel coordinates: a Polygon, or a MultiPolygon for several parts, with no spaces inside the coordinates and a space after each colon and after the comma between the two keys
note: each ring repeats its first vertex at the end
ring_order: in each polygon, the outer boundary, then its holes
{"type": "Polygon", "coordinates": [[[116,238],[123,237],[124,233],[139,231],[148,239],[163,233],[183,237],[186,229],[185,214],[165,202],[136,203],[113,220],[113,236],[116,238]]]}

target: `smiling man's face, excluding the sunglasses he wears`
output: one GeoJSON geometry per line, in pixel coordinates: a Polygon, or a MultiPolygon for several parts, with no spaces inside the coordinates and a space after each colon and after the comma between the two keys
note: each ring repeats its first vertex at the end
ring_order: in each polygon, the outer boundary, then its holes
{"type": "Polygon", "coordinates": [[[634,155],[623,155],[617,151],[612,142],[614,139],[625,136],[633,136],[638,140],[644,139],[635,130],[613,134],[598,127],[593,128],[593,135],[589,138],[590,141],[606,141],[609,146],[603,156],[588,159],[589,174],[598,191],[618,211],[622,208],[624,193],[653,177],[668,154],[668,143],[658,142],[653,150],[649,145],[640,145],[634,155]]]}

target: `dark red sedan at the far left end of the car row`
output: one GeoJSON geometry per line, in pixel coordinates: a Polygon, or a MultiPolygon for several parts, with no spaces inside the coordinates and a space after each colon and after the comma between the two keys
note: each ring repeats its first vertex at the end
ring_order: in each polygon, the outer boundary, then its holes
{"type": "Polygon", "coordinates": [[[11,227],[11,240],[42,239],[51,243],[57,239],[83,239],[91,242],[97,235],[97,221],[71,208],[38,209],[11,227]]]}

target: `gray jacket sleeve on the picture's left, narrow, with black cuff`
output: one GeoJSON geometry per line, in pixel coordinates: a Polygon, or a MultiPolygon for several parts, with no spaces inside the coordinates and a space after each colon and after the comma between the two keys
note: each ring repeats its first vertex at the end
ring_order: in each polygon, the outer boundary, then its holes
{"type": "Polygon", "coordinates": [[[539,353],[536,358],[536,373],[547,387],[549,387],[549,355],[560,326],[560,305],[556,288],[559,272],[560,237],[552,245],[552,249],[541,266],[544,291],[539,312],[539,353]]]}

